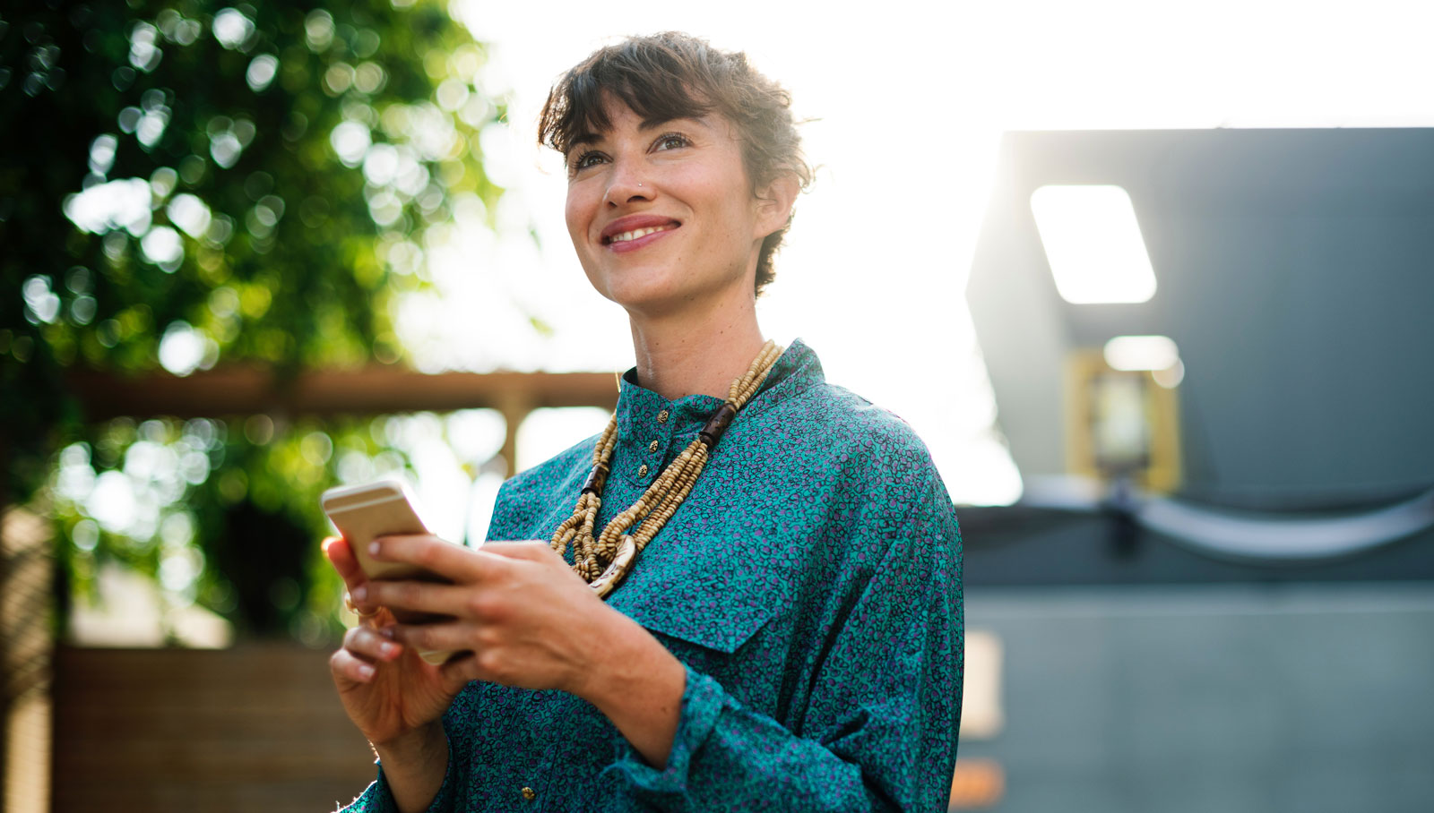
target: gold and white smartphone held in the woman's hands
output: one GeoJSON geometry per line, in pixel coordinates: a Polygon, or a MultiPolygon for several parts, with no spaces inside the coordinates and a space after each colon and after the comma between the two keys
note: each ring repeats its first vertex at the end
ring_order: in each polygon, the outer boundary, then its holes
{"type": "MultiPolygon", "coordinates": [[[[358,568],[369,578],[447,581],[433,571],[412,564],[374,561],[369,555],[369,542],[379,537],[430,532],[423,520],[419,518],[414,500],[403,482],[380,479],[364,485],[330,488],[320,498],[320,504],[324,507],[328,521],[348,540],[348,548],[358,560],[358,568]]],[[[413,613],[394,613],[394,615],[404,624],[432,623],[443,618],[442,615],[413,613]]],[[[420,651],[419,657],[432,664],[440,664],[452,654],[447,651],[420,651]]]]}

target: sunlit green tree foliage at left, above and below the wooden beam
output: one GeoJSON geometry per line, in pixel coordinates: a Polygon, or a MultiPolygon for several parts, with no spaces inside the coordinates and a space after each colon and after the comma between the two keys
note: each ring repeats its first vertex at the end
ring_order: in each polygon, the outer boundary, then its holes
{"type": "Polygon", "coordinates": [[[381,438],[282,418],[86,425],[67,371],[399,361],[390,302],[423,285],[424,229],[502,192],[478,149],[505,115],[478,90],[485,62],[423,0],[3,11],[0,502],[52,487],[79,583],[109,557],[181,584],[165,563],[194,548],[199,601],[260,631],[293,621],[314,545],[270,555],[262,590],[235,581],[241,545],[321,530],[336,447],[391,454],[381,438]],[[110,475],[159,510],[90,517],[110,475]],[[271,605],[244,607],[265,590],[271,605]]]}

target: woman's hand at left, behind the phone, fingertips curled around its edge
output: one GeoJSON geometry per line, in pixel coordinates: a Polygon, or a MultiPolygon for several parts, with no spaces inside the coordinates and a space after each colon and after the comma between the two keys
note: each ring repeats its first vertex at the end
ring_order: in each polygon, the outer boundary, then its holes
{"type": "MultiPolygon", "coordinates": [[[[347,540],[326,540],[324,555],[343,577],[350,595],[367,584],[347,540]]],[[[437,723],[463,681],[445,678],[443,671],[420,658],[413,647],[386,637],[386,630],[396,624],[387,608],[364,601],[354,601],[354,607],[360,614],[358,625],[344,634],[343,647],[328,658],[338,698],[348,719],[376,747],[410,740],[437,723]]]]}

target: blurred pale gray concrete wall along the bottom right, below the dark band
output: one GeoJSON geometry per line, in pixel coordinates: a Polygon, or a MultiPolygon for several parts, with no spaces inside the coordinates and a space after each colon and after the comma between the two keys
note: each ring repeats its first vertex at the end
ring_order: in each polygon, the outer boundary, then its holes
{"type": "Polygon", "coordinates": [[[1434,583],[982,587],[1001,813],[1434,810],[1434,583]]]}

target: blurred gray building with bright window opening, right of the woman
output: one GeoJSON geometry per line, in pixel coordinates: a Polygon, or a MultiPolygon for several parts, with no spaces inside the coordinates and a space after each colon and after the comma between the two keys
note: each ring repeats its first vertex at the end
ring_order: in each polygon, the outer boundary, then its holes
{"type": "Polygon", "coordinates": [[[959,511],[992,809],[1434,810],[1434,130],[1008,133],[968,302],[1025,482],[959,511]],[[1071,186],[1153,295],[1063,295],[1071,186]]]}

